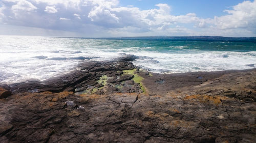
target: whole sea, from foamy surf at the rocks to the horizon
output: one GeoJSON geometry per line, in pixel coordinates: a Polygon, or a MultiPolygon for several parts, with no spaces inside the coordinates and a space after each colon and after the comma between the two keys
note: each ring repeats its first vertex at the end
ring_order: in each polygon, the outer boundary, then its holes
{"type": "Polygon", "coordinates": [[[46,80],[81,62],[116,60],[156,73],[242,70],[256,67],[256,38],[0,36],[0,83],[46,80]]]}

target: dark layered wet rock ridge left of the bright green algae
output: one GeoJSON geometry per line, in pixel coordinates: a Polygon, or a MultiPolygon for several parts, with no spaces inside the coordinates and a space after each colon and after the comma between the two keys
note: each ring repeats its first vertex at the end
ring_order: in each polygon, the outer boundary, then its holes
{"type": "MultiPolygon", "coordinates": [[[[28,81],[24,83],[14,83],[10,85],[13,93],[19,92],[62,92],[62,91],[82,91],[85,87],[94,86],[102,75],[120,75],[122,70],[133,69],[130,62],[85,62],[78,65],[78,68],[70,73],[53,77],[44,82],[28,81]],[[120,72],[119,72],[120,71],[120,72]]],[[[124,76],[120,80],[129,80],[130,76],[124,76]]],[[[119,81],[117,81],[119,82],[119,81]]],[[[97,87],[97,86],[96,86],[97,87]]]]}

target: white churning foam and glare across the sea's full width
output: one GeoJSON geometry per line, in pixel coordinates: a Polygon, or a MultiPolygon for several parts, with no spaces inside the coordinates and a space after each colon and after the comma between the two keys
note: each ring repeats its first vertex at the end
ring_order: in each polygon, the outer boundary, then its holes
{"type": "Polygon", "coordinates": [[[142,48],[123,47],[101,39],[26,36],[0,36],[0,43],[0,83],[46,80],[75,69],[83,61],[82,57],[105,61],[116,59],[120,53],[142,56],[142,59],[133,62],[136,66],[161,73],[248,69],[253,67],[246,65],[256,64],[256,51],[185,50],[161,53],[147,51],[152,49],[147,45],[142,48]]]}

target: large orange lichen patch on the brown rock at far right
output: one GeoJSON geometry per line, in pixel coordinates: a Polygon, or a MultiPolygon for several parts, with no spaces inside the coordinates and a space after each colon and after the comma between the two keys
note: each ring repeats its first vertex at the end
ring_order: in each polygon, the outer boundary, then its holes
{"type": "Polygon", "coordinates": [[[230,98],[224,97],[224,96],[187,95],[184,97],[184,99],[185,100],[197,99],[199,100],[199,102],[213,103],[215,105],[219,105],[220,103],[222,103],[222,100],[227,100],[230,98]]]}

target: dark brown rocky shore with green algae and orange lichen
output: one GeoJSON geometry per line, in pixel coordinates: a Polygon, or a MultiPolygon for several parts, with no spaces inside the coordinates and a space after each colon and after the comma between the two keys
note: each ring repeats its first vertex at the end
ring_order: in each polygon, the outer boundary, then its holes
{"type": "Polygon", "coordinates": [[[157,74],[128,61],[0,85],[0,142],[255,142],[256,69],[157,74]]]}

